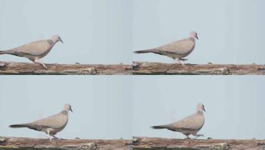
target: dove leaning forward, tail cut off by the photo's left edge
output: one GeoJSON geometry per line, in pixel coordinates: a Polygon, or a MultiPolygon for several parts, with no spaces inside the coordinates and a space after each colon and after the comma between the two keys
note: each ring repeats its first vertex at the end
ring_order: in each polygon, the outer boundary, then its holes
{"type": "Polygon", "coordinates": [[[0,55],[9,54],[18,57],[25,57],[36,64],[41,64],[45,69],[48,69],[47,66],[40,61],[40,59],[45,57],[58,41],[63,43],[60,36],[55,35],[50,39],[38,40],[12,49],[1,50],[0,55]]]}

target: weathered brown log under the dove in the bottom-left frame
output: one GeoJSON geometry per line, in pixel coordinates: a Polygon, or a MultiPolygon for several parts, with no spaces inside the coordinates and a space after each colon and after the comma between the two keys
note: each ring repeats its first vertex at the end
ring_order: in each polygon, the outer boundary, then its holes
{"type": "Polygon", "coordinates": [[[62,140],[0,138],[0,150],[130,150],[131,140],[62,140]]]}

